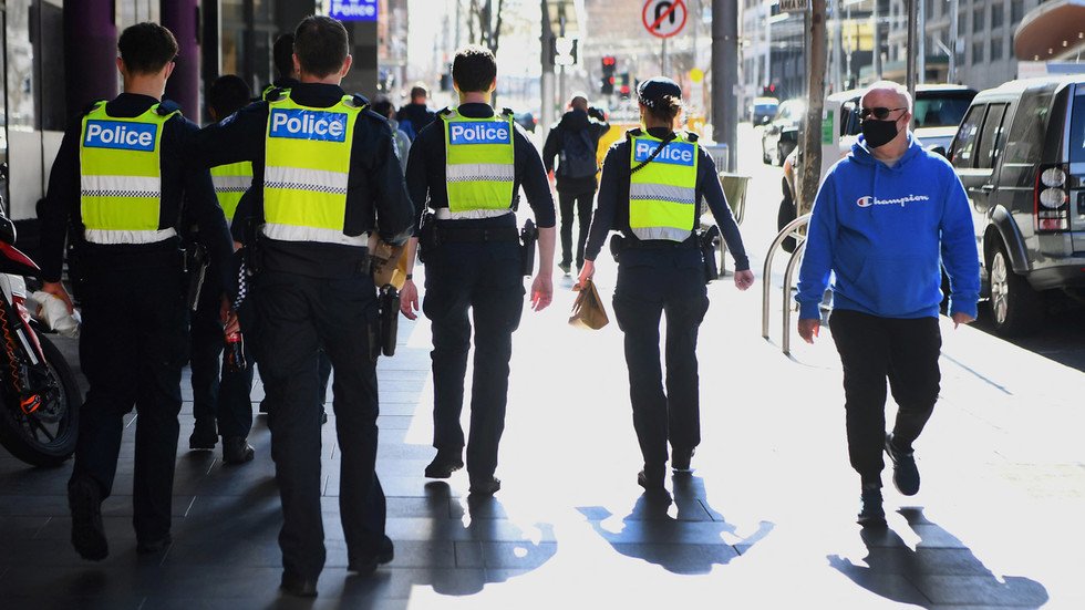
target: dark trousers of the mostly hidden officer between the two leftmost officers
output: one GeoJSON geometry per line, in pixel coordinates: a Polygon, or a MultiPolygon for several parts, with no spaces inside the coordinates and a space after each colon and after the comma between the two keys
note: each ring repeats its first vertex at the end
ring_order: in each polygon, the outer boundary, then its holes
{"type": "MultiPolygon", "coordinates": [[[[248,303],[242,304],[247,309],[248,303]]],[[[246,437],[252,428],[252,341],[255,332],[242,330],[245,359],[249,366],[230,371],[221,361],[224,350],[223,322],[219,319],[218,294],[205,290],[192,314],[189,364],[193,371],[193,415],[196,421],[216,420],[223,438],[246,437]]]]}

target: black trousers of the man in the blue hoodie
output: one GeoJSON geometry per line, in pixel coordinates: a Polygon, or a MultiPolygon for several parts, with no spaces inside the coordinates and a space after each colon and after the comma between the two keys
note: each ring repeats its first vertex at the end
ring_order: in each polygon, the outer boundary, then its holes
{"type": "Polygon", "coordinates": [[[878,318],[835,310],[833,340],[844,364],[848,456],[864,485],[881,485],[886,467],[886,379],[897,401],[895,445],[911,451],[938,401],[942,335],[937,318],[878,318]]]}

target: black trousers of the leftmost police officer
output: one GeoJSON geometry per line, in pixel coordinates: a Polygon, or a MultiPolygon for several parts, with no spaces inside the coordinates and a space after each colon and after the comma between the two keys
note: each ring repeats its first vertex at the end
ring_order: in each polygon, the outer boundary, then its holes
{"type": "Polygon", "coordinates": [[[161,267],[84,263],[80,362],[90,390],[80,412],[72,478],[113,489],[123,417],[135,406],[133,525],[155,541],[169,534],[188,313],[180,257],[161,267]]]}

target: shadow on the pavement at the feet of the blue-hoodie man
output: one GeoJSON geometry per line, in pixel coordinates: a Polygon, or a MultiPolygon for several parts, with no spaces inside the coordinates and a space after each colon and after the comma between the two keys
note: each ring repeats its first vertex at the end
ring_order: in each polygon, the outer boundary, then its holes
{"type": "Polygon", "coordinates": [[[1040,608],[1047,602],[1043,585],[1024,577],[995,576],[960,540],[928,520],[922,508],[899,513],[919,536],[914,549],[891,528],[867,528],[860,531],[867,548],[865,567],[838,555],[828,556],[829,565],[875,595],[922,608],[1040,608]]]}

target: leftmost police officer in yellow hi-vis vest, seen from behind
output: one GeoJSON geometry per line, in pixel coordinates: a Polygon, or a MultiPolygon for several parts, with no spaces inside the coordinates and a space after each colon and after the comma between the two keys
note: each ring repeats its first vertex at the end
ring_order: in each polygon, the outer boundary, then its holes
{"type": "MultiPolygon", "coordinates": [[[[108,555],[101,504],[113,488],[122,418],[133,405],[136,549],[154,552],[170,541],[180,372],[188,360],[183,204],[218,269],[232,254],[210,176],[185,153],[197,127],[176,104],[159,101],[177,41],[162,25],[140,23],[124,30],[117,46],[124,93],[94,103],[68,128],[39,210],[44,290],[69,308],[60,283],[65,238],[76,245],[80,361],[90,391],[68,494],[72,545],[92,560],[108,555]]],[[[206,289],[221,294],[224,282],[211,278],[206,289]]]]}

